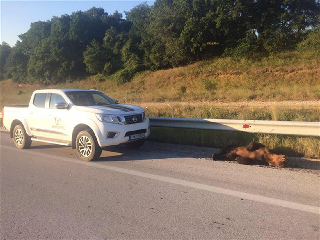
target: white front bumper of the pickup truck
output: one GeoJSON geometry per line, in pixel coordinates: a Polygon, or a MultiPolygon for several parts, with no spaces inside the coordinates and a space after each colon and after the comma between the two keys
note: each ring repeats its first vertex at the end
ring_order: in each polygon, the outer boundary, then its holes
{"type": "Polygon", "coordinates": [[[125,136],[127,132],[137,131],[141,129],[146,129],[145,139],[150,135],[150,122],[149,119],[146,118],[146,121],[143,123],[136,124],[110,124],[110,123],[102,123],[99,124],[99,130],[97,132],[97,140],[100,147],[114,146],[122,143],[129,142],[129,136],[125,136]],[[107,138],[108,132],[117,132],[118,134],[114,138],[107,138]]]}

